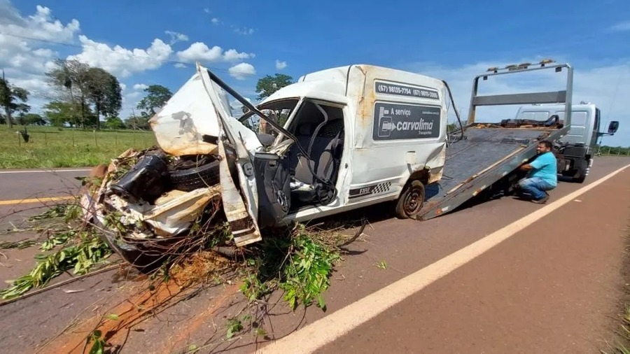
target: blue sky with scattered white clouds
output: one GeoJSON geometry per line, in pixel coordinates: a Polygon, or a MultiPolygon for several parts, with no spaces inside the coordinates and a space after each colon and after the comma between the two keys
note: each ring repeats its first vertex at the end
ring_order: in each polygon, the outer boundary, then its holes
{"type": "MultiPolygon", "coordinates": [[[[619,133],[604,143],[630,145],[627,0],[570,6],[563,1],[174,3],[0,0],[0,67],[37,92],[46,63],[55,57],[76,56],[102,66],[125,85],[125,118],[144,85],[174,92],[193,74],[193,65],[176,62],[199,60],[251,99],[256,80],[266,74],[297,78],[331,66],[377,64],[447,80],[465,115],[475,75],[489,66],[552,57],[575,67],[574,101],[594,102],[605,121],[621,122],[619,133]]],[[[553,82],[541,77],[528,85],[553,82]]],[[[522,84],[501,83],[493,90],[522,84]]],[[[489,115],[512,115],[516,109],[489,115]]]]}

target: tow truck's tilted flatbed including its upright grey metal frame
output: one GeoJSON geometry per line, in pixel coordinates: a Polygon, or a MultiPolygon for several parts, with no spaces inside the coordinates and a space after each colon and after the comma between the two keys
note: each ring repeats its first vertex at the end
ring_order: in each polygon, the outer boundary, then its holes
{"type": "Polygon", "coordinates": [[[530,63],[525,63],[508,65],[503,69],[490,68],[490,73],[475,77],[468,121],[463,129],[451,134],[451,138],[461,137],[447,146],[442,179],[426,186],[426,200],[418,215],[419,220],[428,220],[453,211],[493,183],[515,172],[521,164],[535,157],[539,141],[556,141],[568,133],[573,94],[573,68],[569,64],[548,65],[551,62],[543,60],[539,63],[540,66],[535,67],[530,67],[530,63]],[[493,96],[477,95],[479,79],[487,80],[489,76],[545,69],[553,69],[556,73],[566,69],[565,90],[493,96]],[[500,122],[475,122],[478,106],[558,103],[566,104],[565,120],[561,125],[507,127],[500,122]]]}

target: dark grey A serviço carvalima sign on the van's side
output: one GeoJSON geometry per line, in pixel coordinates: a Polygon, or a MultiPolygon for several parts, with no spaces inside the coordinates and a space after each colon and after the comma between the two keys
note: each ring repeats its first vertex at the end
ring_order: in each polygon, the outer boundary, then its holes
{"type": "Polygon", "coordinates": [[[435,106],[374,103],[374,140],[435,139],[442,110],[435,106]]]}

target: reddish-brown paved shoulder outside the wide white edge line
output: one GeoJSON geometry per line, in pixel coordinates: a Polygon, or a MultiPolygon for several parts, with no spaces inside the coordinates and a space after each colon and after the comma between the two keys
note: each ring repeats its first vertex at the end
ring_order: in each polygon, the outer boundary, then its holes
{"type": "Polygon", "coordinates": [[[584,353],[605,348],[618,327],[613,319],[624,285],[629,191],[626,171],[320,352],[584,353]]]}

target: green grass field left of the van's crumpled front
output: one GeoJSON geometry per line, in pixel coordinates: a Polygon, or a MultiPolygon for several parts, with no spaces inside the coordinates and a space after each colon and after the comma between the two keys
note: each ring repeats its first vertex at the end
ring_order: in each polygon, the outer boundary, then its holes
{"type": "Polygon", "coordinates": [[[153,132],[94,132],[57,127],[27,127],[30,139],[25,143],[16,133],[22,128],[0,125],[1,169],[92,167],[109,164],[128,148],[142,149],[156,144],[153,132]]]}

